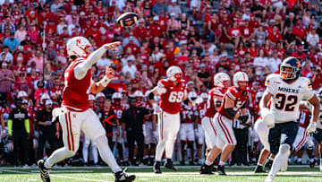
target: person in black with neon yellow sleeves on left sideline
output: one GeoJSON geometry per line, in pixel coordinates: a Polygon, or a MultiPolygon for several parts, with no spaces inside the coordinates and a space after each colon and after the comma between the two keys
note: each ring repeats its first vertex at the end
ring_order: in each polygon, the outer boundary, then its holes
{"type": "Polygon", "coordinates": [[[8,134],[13,138],[13,153],[15,166],[19,166],[18,153],[20,153],[21,165],[25,166],[28,162],[28,139],[30,138],[30,120],[27,110],[21,108],[22,100],[15,100],[17,108],[9,114],[8,134]]]}

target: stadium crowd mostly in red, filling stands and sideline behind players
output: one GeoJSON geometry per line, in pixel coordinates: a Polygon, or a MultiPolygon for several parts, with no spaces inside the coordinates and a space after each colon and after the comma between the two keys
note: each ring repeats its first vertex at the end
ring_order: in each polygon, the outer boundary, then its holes
{"type": "MultiPolygon", "coordinates": [[[[104,76],[106,65],[114,66],[117,75],[106,90],[89,96],[90,107],[100,113],[109,144],[120,163],[139,163],[127,159],[131,148],[134,152],[130,156],[134,153],[135,158],[140,153],[140,162],[153,164],[147,161],[154,159],[156,118],[151,118],[153,134],[147,134],[143,124],[139,128],[145,137],[135,138],[140,146],[128,147],[123,117],[129,116],[124,116],[123,111],[130,107],[129,98],[144,101],[146,91],[166,77],[171,65],[182,68],[188,91],[198,95],[214,86],[216,73],[233,76],[243,71],[250,78],[248,108],[254,123],[265,78],[279,72],[284,57],[299,58],[301,75],[311,80],[314,90],[322,86],[320,14],[318,0],[0,1],[0,164],[33,165],[63,145],[58,122],[51,122],[51,109],[61,104],[64,70],[69,65],[66,42],[72,37],[88,38],[94,49],[107,42],[123,42],[92,66],[94,81],[104,76]],[[116,24],[114,21],[124,12],[138,13],[138,25],[124,30],[116,24]],[[115,102],[122,103],[123,108],[116,107],[115,102]],[[114,110],[112,114],[110,109],[114,110]],[[111,115],[115,116],[113,120],[109,119],[111,115]]],[[[195,115],[200,117],[199,113],[195,115]]],[[[198,123],[198,118],[193,122],[198,123]]],[[[236,123],[233,127],[238,145],[231,164],[256,162],[260,143],[252,126],[236,123]]],[[[185,140],[175,144],[174,158],[181,164],[185,153],[190,156],[190,164],[203,159],[199,145],[204,140],[199,142],[200,138],[192,136],[187,139],[187,148],[185,140]]],[[[293,161],[301,163],[297,155],[293,161]]],[[[99,164],[97,147],[83,135],[78,155],[61,165],[88,164],[90,160],[99,164]]]]}

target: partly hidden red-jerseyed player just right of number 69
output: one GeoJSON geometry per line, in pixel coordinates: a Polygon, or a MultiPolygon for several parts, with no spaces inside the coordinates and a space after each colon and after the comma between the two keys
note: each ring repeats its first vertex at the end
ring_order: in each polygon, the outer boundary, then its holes
{"type": "Polygon", "coordinates": [[[211,151],[216,143],[216,127],[213,122],[213,117],[221,106],[225,91],[231,86],[231,78],[228,74],[218,73],[214,76],[214,85],[215,88],[208,92],[206,114],[201,120],[202,127],[205,130],[208,151],[211,151]]]}

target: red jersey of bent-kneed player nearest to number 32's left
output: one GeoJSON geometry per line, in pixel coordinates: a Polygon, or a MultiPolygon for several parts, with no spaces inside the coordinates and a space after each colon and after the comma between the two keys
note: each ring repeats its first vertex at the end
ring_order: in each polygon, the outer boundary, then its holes
{"type": "MultiPolygon", "coordinates": [[[[248,100],[248,92],[246,91],[245,94],[242,94],[242,91],[237,90],[237,88],[235,86],[230,87],[228,89],[228,91],[225,92],[225,96],[227,96],[229,99],[234,100],[234,104],[233,104],[233,111],[237,112],[240,108],[242,108],[242,105],[248,100]]],[[[219,108],[219,114],[227,117],[229,119],[232,119],[232,117],[228,117],[226,112],[225,112],[225,97],[224,97],[224,101],[221,105],[221,107],[219,108]]]]}

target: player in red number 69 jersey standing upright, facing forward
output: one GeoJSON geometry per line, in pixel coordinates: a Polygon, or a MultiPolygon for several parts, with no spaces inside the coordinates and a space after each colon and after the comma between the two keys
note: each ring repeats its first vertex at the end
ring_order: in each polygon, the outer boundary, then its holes
{"type": "Polygon", "coordinates": [[[156,162],[154,171],[161,173],[160,163],[165,151],[165,168],[174,168],[172,156],[174,152],[174,141],[180,128],[180,108],[182,100],[188,100],[186,82],[182,80],[182,70],[178,66],[171,66],[166,71],[166,79],[157,82],[157,86],[148,94],[148,100],[152,103],[157,113],[159,142],[157,143],[156,162]],[[160,108],[154,100],[154,95],[160,95],[160,108]]]}

